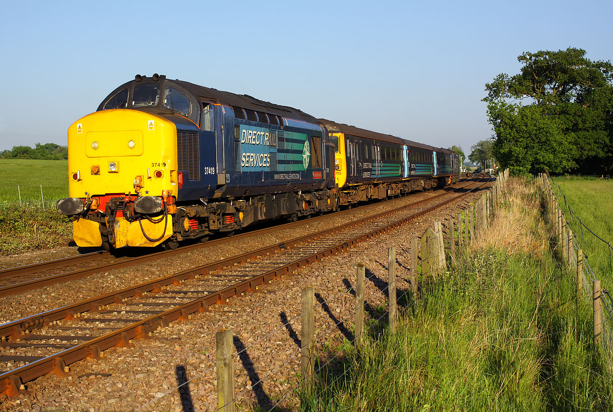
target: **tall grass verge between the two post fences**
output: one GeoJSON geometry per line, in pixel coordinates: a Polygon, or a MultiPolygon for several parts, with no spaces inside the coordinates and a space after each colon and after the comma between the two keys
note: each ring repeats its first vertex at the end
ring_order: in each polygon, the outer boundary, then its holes
{"type": "Polygon", "coordinates": [[[590,308],[549,251],[539,196],[511,180],[460,263],[424,284],[397,333],[348,349],[309,411],[612,410],[590,308]]]}

